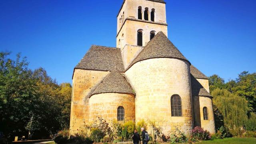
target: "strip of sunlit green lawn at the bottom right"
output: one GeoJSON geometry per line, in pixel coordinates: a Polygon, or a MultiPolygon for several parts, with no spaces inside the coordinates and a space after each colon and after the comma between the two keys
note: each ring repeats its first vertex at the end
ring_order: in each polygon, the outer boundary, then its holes
{"type": "Polygon", "coordinates": [[[256,144],[256,138],[224,138],[196,142],[196,144],[256,144]]]}

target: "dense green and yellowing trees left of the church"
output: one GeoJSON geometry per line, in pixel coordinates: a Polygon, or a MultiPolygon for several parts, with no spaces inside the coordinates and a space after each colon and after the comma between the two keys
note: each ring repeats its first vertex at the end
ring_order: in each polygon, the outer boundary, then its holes
{"type": "Polygon", "coordinates": [[[46,70],[30,70],[26,58],[0,53],[0,131],[40,138],[69,127],[72,87],[57,84],[46,70]]]}

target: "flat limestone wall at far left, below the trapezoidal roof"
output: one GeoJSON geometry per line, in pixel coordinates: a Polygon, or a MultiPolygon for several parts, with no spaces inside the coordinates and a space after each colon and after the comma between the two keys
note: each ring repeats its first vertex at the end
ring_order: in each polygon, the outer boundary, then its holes
{"type": "Polygon", "coordinates": [[[70,134],[89,120],[89,99],[86,98],[90,88],[100,82],[109,72],[75,69],[70,114],[70,134]]]}

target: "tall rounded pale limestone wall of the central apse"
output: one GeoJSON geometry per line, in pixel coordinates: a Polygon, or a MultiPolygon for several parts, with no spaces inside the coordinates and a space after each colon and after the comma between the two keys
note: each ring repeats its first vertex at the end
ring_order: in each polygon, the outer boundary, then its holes
{"type": "Polygon", "coordinates": [[[174,58],[153,58],[134,64],[125,72],[136,92],[136,122],[155,121],[165,134],[176,128],[187,133],[193,128],[190,65],[174,58]],[[170,98],[182,99],[182,116],[171,116],[170,98]]]}

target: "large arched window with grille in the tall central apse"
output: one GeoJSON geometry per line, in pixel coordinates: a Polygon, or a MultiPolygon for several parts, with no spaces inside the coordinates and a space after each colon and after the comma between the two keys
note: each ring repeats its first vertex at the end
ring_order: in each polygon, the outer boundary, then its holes
{"type": "Polygon", "coordinates": [[[181,98],[178,94],[171,97],[172,116],[182,116],[181,98]]]}

